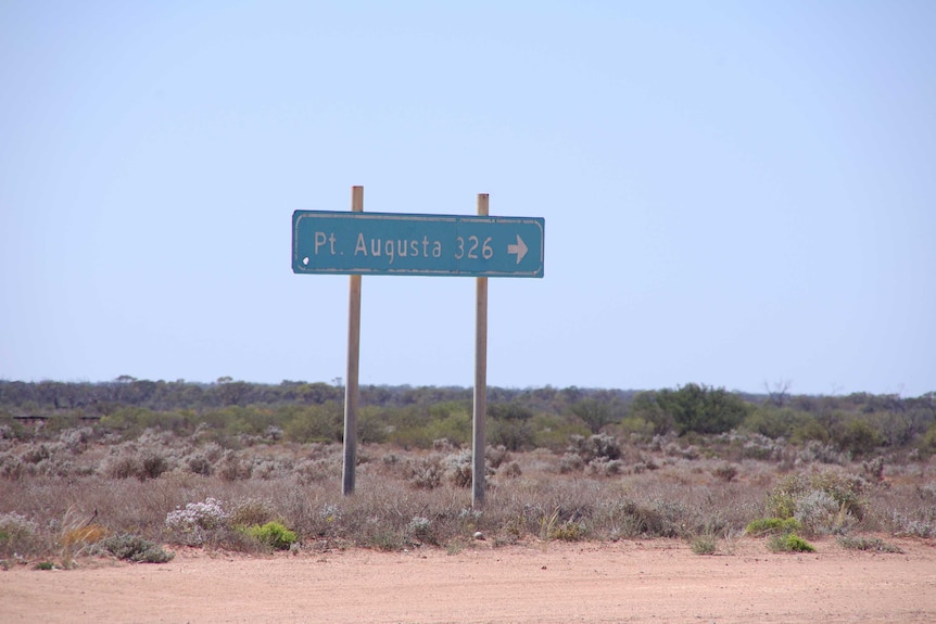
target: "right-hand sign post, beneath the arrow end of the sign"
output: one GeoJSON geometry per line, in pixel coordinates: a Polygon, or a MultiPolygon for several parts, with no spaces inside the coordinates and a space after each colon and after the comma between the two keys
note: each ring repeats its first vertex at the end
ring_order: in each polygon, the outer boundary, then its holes
{"type": "MultiPolygon", "coordinates": [[[[478,195],[478,216],[488,216],[488,194],[478,195]]],[[[484,419],[488,412],[488,278],[476,278],[475,305],[475,413],[472,419],[471,505],[484,505],[484,419]]]]}

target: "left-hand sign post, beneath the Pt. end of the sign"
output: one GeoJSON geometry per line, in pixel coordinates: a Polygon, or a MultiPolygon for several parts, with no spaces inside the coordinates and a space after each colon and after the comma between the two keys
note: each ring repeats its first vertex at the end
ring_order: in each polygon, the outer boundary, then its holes
{"type": "MultiPolygon", "coordinates": [[[[364,212],[364,187],[351,188],[351,211],[364,212]]],[[[361,276],[351,276],[347,306],[347,374],[344,381],[344,464],[341,493],[354,493],[354,471],[357,463],[357,387],[361,361],[361,276]]]]}

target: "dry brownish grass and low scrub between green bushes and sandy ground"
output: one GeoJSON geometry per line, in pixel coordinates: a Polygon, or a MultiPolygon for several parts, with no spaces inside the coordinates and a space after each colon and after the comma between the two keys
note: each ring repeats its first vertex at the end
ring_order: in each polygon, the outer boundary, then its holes
{"type": "MultiPolygon", "coordinates": [[[[154,431],[130,442],[87,434],[63,440],[80,443],[5,445],[0,559],[58,556],[68,565],[109,535],[185,544],[179,530],[167,526],[167,514],[210,498],[225,514],[199,529],[199,544],[210,548],[256,550],[235,527],[278,521],[298,534],[305,549],[460,549],[481,532],[495,545],[667,537],[704,539],[705,551],[731,552],[745,526],[767,513],[771,488],[789,475],[827,468],[798,457],[802,449],[797,447],[771,442],[762,450],[763,441],[752,451],[717,441],[706,446],[704,440],[619,446],[608,440],[587,446],[580,440],[587,455],[578,468],[568,453],[491,449],[486,505],[476,510],[465,481],[470,455],[451,445],[429,450],[363,445],[357,491],[342,497],[337,444],[224,448],[154,431]],[[607,448],[614,457],[600,455],[607,448]]],[[[869,475],[861,463],[835,469],[855,479],[869,475]]],[[[885,463],[872,473],[862,481],[862,513],[848,531],[936,535],[932,461],[885,463]]]]}

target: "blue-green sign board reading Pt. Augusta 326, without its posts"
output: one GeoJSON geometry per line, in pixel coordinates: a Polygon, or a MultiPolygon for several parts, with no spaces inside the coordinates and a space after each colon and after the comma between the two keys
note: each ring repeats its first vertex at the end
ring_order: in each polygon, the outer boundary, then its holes
{"type": "Polygon", "coordinates": [[[541,278],[544,228],[539,217],[296,211],[292,270],[541,278]]]}

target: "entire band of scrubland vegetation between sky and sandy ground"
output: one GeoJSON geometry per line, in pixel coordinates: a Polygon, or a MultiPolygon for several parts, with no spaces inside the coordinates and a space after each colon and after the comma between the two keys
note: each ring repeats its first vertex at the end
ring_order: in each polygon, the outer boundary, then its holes
{"type": "Polygon", "coordinates": [[[681,538],[887,551],[936,535],[936,394],[491,389],[470,504],[470,391],[363,389],[342,497],[338,385],[0,381],[0,563],[681,538]]]}

